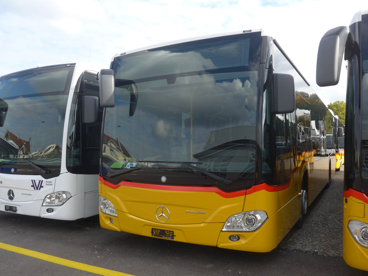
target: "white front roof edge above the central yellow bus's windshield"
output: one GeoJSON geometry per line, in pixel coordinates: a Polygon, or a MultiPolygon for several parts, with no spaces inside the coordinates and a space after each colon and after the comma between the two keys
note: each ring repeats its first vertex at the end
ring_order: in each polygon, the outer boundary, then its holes
{"type": "Polygon", "coordinates": [[[201,36],[195,36],[195,37],[192,37],[192,38],[184,38],[184,39],[178,39],[178,40],[173,40],[173,41],[169,41],[169,42],[162,42],[162,43],[158,43],[158,44],[154,44],[154,45],[150,45],[150,46],[145,46],[145,47],[134,49],[134,50],[129,50],[129,51],[126,51],[126,52],[121,52],[121,53],[118,53],[115,56],[113,56],[113,59],[115,57],[121,56],[123,54],[131,54],[131,53],[135,53],[135,52],[139,52],[139,51],[144,51],[144,50],[148,50],[148,49],[155,49],[155,48],[158,48],[158,47],[174,45],[174,44],[188,42],[188,41],[195,41],[195,40],[206,39],[206,38],[216,38],[218,36],[236,35],[236,34],[243,33],[243,32],[261,32],[261,35],[265,35],[265,30],[261,29],[261,28],[247,29],[247,30],[241,30],[241,31],[232,31],[232,32],[225,32],[225,33],[215,33],[215,34],[211,34],[211,35],[201,35],[201,36]]]}

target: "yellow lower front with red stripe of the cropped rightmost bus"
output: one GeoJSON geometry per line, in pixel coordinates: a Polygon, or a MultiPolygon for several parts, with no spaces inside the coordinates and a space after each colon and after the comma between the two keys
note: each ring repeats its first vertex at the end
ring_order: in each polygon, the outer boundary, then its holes
{"type": "Polygon", "coordinates": [[[368,248],[358,244],[351,235],[350,220],[368,223],[368,197],[352,189],[344,191],[343,257],[348,265],[368,271],[368,248]]]}

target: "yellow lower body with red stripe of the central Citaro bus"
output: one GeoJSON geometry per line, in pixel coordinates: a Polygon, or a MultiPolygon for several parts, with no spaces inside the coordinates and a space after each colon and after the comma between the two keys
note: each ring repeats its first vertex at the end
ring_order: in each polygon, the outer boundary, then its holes
{"type": "Polygon", "coordinates": [[[294,170],[290,183],[286,185],[260,184],[230,193],[215,187],[125,181],[114,185],[100,177],[100,195],[109,198],[117,213],[115,217],[100,211],[100,224],[106,229],[148,237],[152,236],[152,228],[170,230],[174,232],[174,241],[269,252],[276,248],[300,216],[299,171],[297,168],[294,170]],[[170,210],[167,222],[159,222],[156,218],[156,210],[160,206],[170,210]],[[222,231],[231,215],[250,210],[264,210],[268,214],[268,219],[258,230],[222,231]],[[238,235],[240,240],[230,241],[231,235],[238,235]]]}

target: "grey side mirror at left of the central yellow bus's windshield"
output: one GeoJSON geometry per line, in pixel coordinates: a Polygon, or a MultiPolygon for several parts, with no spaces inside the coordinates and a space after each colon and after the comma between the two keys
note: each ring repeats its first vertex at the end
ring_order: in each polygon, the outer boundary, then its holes
{"type": "Polygon", "coordinates": [[[112,69],[102,69],[98,74],[100,84],[100,106],[114,107],[115,106],[115,78],[112,69]]]}

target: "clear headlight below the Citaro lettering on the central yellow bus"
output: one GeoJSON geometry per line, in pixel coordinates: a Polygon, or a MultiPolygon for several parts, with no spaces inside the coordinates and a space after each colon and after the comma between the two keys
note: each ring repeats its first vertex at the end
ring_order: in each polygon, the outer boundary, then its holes
{"type": "Polygon", "coordinates": [[[255,231],[268,219],[267,213],[261,210],[254,210],[238,213],[229,217],[222,231],[250,232],[255,231]]]}

